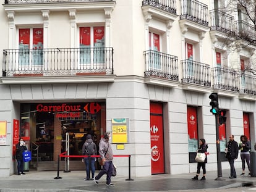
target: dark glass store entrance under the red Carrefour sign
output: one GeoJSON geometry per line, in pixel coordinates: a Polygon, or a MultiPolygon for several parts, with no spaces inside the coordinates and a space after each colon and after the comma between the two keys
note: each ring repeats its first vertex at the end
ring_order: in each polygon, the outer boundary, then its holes
{"type": "MultiPolygon", "coordinates": [[[[32,151],[31,164],[57,162],[58,155],[66,151],[66,133],[70,155],[82,155],[88,134],[98,146],[105,121],[105,102],[20,104],[20,136],[32,151]]],[[[81,158],[70,157],[70,169],[73,161],[81,158]]],[[[79,165],[84,169],[84,164],[79,165]]]]}

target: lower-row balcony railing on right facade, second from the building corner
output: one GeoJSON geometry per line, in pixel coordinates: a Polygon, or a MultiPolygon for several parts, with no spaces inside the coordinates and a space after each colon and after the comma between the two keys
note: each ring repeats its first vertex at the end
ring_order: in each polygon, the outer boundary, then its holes
{"type": "Polygon", "coordinates": [[[211,86],[210,65],[196,61],[182,60],[183,78],[182,83],[211,86]]]}

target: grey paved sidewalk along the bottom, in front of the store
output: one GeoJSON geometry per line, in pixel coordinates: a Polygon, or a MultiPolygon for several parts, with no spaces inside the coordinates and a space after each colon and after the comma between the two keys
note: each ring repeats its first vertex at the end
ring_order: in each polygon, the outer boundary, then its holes
{"type": "Polygon", "coordinates": [[[242,170],[236,169],[237,178],[229,178],[229,170],[223,170],[223,181],[216,181],[217,171],[207,172],[207,180],[193,181],[195,173],[181,175],[152,175],[150,177],[132,178],[133,181],[126,181],[127,177],[117,176],[112,178],[115,186],[106,186],[106,177],[102,177],[100,185],[93,181],[85,181],[85,171],[71,171],[69,173],[59,172],[25,172],[26,175],[11,175],[0,177],[1,192],[83,192],[83,191],[182,191],[182,190],[206,190],[235,188],[242,185],[254,185],[256,177],[239,175],[242,170]]]}

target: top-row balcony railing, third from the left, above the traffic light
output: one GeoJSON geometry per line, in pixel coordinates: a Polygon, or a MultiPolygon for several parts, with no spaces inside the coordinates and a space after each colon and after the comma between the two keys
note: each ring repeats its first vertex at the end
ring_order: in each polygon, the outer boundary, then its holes
{"type": "Polygon", "coordinates": [[[210,10],[211,30],[234,35],[234,17],[220,10],[210,10]]]}

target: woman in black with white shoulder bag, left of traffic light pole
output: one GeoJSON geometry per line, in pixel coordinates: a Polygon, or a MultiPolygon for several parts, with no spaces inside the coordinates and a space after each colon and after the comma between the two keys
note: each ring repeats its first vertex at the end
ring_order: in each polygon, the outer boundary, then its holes
{"type": "Polygon", "coordinates": [[[204,162],[197,162],[197,175],[195,175],[195,177],[193,177],[192,180],[198,180],[201,167],[203,169],[203,177],[201,178],[201,180],[205,180],[205,175],[206,175],[205,164],[207,163],[207,148],[208,148],[208,145],[205,144],[205,139],[200,139],[199,148],[197,149],[197,152],[204,152],[206,154],[206,157],[204,162]]]}

